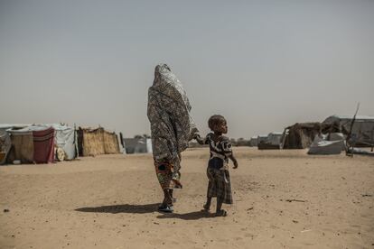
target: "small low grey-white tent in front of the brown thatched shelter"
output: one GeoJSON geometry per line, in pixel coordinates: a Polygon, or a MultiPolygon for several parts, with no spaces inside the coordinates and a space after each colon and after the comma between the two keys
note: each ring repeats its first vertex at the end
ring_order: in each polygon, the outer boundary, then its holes
{"type": "Polygon", "coordinates": [[[315,136],[308,154],[332,155],[340,154],[345,150],[343,134],[333,133],[324,136],[315,136]],[[327,138],[327,139],[325,139],[327,138]]]}

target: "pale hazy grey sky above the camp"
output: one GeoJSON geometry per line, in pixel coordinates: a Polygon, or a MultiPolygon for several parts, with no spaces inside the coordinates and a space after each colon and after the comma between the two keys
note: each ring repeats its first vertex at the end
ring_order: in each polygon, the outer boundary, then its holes
{"type": "Polygon", "coordinates": [[[283,131],[374,115],[374,1],[0,0],[0,124],[149,132],[147,88],[165,62],[202,133],[283,131]]]}

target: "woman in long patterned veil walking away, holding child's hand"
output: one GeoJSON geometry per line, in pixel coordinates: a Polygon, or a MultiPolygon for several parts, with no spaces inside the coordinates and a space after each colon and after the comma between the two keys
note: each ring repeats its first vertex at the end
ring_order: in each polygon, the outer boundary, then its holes
{"type": "Polygon", "coordinates": [[[147,115],[151,123],[154,167],[164,190],[160,211],[173,212],[173,189],[182,189],[181,152],[197,133],[191,106],[181,81],[166,64],[154,69],[154,84],[148,89],[147,115]]]}

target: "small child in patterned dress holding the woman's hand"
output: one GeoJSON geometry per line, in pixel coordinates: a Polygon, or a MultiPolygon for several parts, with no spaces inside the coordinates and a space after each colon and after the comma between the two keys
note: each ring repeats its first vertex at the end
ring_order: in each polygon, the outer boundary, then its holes
{"type": "Polygon", "coordinates": [[[216,217],[225,217],[227,212],[221,209],[222,203],[233,203],[229,180],[229,159],[234,163],[234,169],[238,168],[238,161],[232,153],[229,138],[222,135],[228,133],[226,119],[222,115],[212,115],[208,125],[213,133],[208,134],[205,139],[202,139],[199,134],[194,136],[198,143],[210,146],[210,160],[207,169],[209,179],[207,203],[203,208],[209,211],[211,198],[216,197],[216,217]]]}

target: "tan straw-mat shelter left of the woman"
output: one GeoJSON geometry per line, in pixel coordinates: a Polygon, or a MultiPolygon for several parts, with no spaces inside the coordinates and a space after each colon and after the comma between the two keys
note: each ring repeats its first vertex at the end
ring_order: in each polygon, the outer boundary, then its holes
{"type": "Polygon", "coordinates": [[[78,134],[78,150],[81,156],[119,153],[117,134],[109,133],[102,127],[81,128],[78,134]]]}

